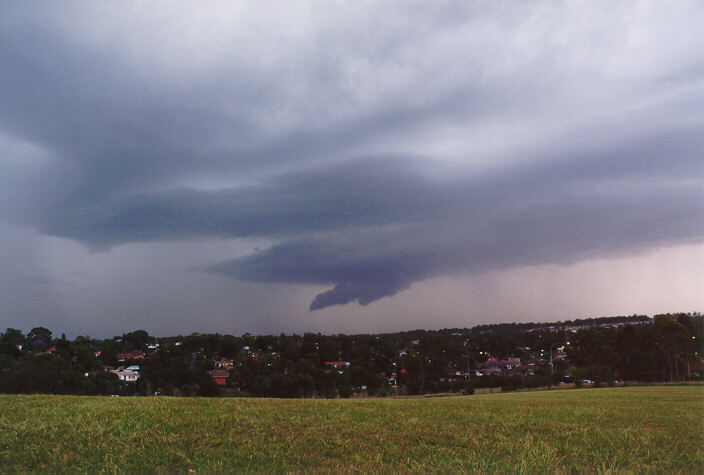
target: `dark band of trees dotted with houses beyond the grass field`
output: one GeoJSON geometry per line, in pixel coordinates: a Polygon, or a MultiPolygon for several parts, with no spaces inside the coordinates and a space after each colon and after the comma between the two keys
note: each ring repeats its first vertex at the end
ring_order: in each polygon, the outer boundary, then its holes
{"type": "Polygon", "coordinates": [[[8,328],[0,392],[350,397],[701,380],[702,325],[700,313],[677,313],[386,334],[157,338],[137,330],[73,340],[8,328]],[[139,378],[120,381],[114,371],[130,365],[139,378]]]}

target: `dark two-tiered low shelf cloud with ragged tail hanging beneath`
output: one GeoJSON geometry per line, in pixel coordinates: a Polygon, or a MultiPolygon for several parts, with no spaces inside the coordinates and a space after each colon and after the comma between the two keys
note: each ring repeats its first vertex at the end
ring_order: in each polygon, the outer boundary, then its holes
{"type": "Polygon", "coordinates": [[[681,127],[481,175],[452,176],[435,166],[432,176],[419,157],[364,157],[239,189],[125,194],[57,211],[43,232],[97,250],[273,238],[281,243],[206,270],[333,285],[311,310],[367,305],[440,275],[699,242],[701,157],[694,150],[704,150],[704,138],[681,127]]]}

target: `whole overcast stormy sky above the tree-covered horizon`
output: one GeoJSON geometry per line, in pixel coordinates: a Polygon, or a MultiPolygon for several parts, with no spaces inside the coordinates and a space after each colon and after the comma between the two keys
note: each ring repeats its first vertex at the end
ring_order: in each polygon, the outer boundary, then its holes
{"type": "Polygon", "coordinates": [[[0,2],[0,330],[704,310],[704,6],[0,2]]]}

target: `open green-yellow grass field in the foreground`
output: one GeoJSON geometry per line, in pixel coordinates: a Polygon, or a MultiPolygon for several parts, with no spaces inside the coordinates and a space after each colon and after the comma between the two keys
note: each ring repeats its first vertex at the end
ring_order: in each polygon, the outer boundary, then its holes
{"type": "Polygon", "coordinates": [[[0,396],[0,470],[686,470],[704,387],[425,399],[0,396]]]}

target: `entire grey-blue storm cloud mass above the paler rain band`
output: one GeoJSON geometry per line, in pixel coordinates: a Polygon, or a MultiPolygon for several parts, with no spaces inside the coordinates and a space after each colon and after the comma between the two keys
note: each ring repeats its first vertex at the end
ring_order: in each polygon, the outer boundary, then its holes
{"type": "Polygon", "coordinates": [[[102,251],[273,240],[207,270],[331,286],[312,310],[701,241],[694,15],[346,8],[3,4],[0,152],[29,158],[0,212],[102,251]]]}

